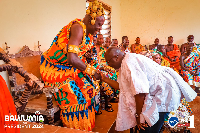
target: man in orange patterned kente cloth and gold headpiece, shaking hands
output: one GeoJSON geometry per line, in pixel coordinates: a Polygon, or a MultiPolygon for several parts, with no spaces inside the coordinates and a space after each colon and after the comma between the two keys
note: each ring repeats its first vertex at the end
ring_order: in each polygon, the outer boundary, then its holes
{"type": "Polygon", "coordinates": [[[61,108],[63,125],[91,131],[95,126],[94,96],[91,77],[95,68],[85,53],[93,47],[93,35],[102,29],[104,9],[97,0],[89,4],[86,16],[71,21],[54,38],[41,57],[40,72],[46,87],[57,87],[55,100],[61,108]]]}

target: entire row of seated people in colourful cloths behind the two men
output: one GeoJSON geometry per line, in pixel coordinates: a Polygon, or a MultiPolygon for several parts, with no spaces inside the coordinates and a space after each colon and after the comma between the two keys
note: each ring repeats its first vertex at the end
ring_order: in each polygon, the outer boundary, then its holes
{"type": "MultiPolygon", "coordinates": [[[[171,67],[177,73],[179,73],[183,79],[198,93],[200,94],[200,61],[199,61],[199,52],[200,47],[193,42],[194,36],[189,35],[187,38],[188,42],[179,46],[173,43],[173,37],[168,37],[168,43],[166,45],[161,45],[159,43],[159,38],[156,38],[154,44],[149,45],[149,49],[146,45],[140,43],[140,38],[137,37],[135,43],[129,45],[129,39],[127,36],[122,37],[122,43],[118,44],[117,39],[111,39],[109,37],[103,38],[102,34],[98,34],[94,37],[94,49],[91,51],[94,55],[95,60],[98,60],[98,63],[103,71],[107,72],[107,76],[110,78],[117,79],[117,71],[109,68],[104,60],[104,53],[110,46],[119,47],[124,52],[136,53],[145,55],[161,66],[171,67]],[[130,47],[129,47],[130,46],[130,47]],[[96,55],[95,55],[96,53],[96,55]],[[113,76],[114,75],[114,76],[113,76]]],[[[90,59],[90,61],[93,59],[90,59]]],[[[94,65],[95,66],[95,65],[94,65]]],[[[101,97],[106,98],[106,110],[113,111],[110,107],[110,100],[113,97],[117,97],[116,92],[110,88],[107,84],[102,83],[101,88],[106,95],[101,93],[101,97]]],[[[111,100],[113,101],[113,99],[111,100]]],[[[117,101],[114,99],[114,101],[117,101]]],[[[99,114],[99,112],[97,113],[99,114]]]]}

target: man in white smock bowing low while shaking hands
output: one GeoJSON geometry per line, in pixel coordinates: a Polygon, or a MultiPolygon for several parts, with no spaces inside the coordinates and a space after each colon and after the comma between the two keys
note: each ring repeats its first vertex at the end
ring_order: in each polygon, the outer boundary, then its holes
{"type": "Polygon", "coordinates": [[[177,72],[143,55],[110,47],[105,59],[119,69],[117,82],[101,73],[102,81],[120,89],[117,131],[137,127],[140,133],[158,133],[164,116],[176,110],[183,97],[191,102],[197,96],[177,72]]]}

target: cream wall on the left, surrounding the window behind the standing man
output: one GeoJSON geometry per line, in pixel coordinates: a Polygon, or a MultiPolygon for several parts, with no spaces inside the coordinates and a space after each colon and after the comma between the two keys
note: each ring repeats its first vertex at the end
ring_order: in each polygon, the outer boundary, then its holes
{"type": "MultiPolygon", "coordinates": [[[[112,8],[112,38],[121,41],[120,0],[101,0],[112,8]]],[[[24,45],[46,51],[61,28],[85,16],[85,0],[0,0],[0,47],[17,53],[24,45]]],[[[0,62],[0,65],[3,62],[0,62]]],[[[6,72],[0,73],[7,83],[6,72]]]]}

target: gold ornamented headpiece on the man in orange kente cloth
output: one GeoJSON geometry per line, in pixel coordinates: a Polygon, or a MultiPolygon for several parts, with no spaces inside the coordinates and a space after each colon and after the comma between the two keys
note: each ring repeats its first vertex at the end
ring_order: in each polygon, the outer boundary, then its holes
{"type": "Polygon", "coordinates": [[[90,2],[86,14],[92,17],[91,24],[94,25],[96,21],[96,17],[104,16],[104,8],[102,7],[102,3],[95,0],[94,2],[90,2]]]}

